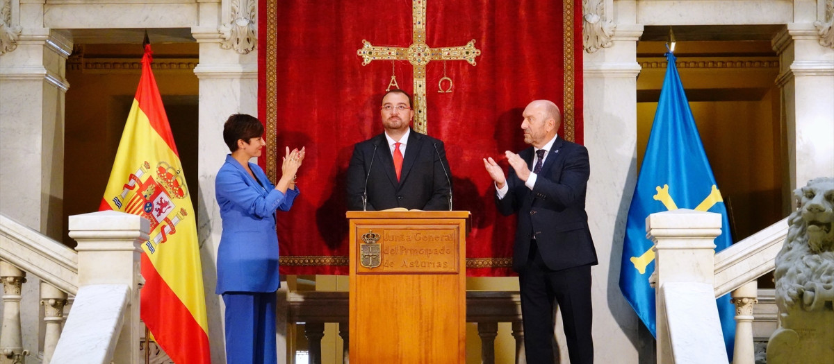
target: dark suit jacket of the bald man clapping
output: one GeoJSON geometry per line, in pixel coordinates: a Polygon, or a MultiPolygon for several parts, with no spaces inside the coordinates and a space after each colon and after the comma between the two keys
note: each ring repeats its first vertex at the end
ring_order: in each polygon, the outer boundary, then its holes
{"type": "MultiPolygon", "coordinates": [[[[533,170],[533,147],[519,155],[533,170]]],[[[513,247],[513,269],[521,272],[535,242],[545,265],[553,270],[596,264],[596,250],[585,213],[585,189],[590,175],[588,150],[557,137],[548,150],[533,189],[519,180],[510,167],[509,190],[495,204],[505,216],[519,213],[513,247]]]]}

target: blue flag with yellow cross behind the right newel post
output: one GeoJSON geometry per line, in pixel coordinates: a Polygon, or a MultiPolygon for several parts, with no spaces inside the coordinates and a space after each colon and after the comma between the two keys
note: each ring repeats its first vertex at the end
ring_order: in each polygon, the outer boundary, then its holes
{"type": "MultiPolygon", "coordinates": [[[[655,289],[649,285],[649,276],[655,271],[655,253],[651,250],[653,243],[646,238],[646,217],[679,208],[721,214],[716,252],[732,244],[726,206],[706,160],[675,56],[669,52],[666,58],[666,78],[631,199],[620,266],[620,290],[652,335],[656,335],[655,289]]],[[[736,310],[729,294],[718,298],[717,304],[724,342],[732,358],[736,310]]]]}

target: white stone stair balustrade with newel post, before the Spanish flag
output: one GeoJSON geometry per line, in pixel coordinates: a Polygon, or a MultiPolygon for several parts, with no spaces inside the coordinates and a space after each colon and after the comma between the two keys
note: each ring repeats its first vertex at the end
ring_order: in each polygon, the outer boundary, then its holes
{"type": "MultiPolygon", "coordinates": [[[[139,243],[148,239],[148,220],[113,211],[71,216],[70,236],[76,250],[39,235],[10,219],[0,219],[0,282],[3,282],[3,331],[0,332],[0,364],[25,363],[30,353],[40,362],[139,363],[139,243]],[[25,268],[24,271],[22,268],[25,268]],[[40,282],[44,307],[42,351],[23,346],[21,292],[27,272],[40,282]],[[79,287],[84,289],[79,289],[79,287]],[[86,291],[85,291],[86,290],[86,291]],[[82,292],[88,292],[86,298],[82,292]],[[73,310],[64,327],[64,311],[70,295],[93,304],[73,310]],[[103,311],[113,312],[111,319],[103,311]],[[92,312],[92,313],[91,313],[92,312]],[[92,319],[91,319],[92,315],[92,319]],[[74,324],[73,324],[74,320],[74,324]],[[107,333],[101,335],[102,332],[107,333]],[[93,335],[94,334],[94,335],[93,335]],[[92,336],[91,336],[92,335],[92,336]]],[[[24,307],[25,308],[25,307],[24,307]]]]}

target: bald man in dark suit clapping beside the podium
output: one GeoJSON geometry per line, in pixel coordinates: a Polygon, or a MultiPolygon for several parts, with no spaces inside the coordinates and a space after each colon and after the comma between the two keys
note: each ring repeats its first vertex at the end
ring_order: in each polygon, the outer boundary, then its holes
{"type": "Polygon", "coordinates": [[[527,362],[554,362],[558,303],[570,363],[592,363],[590,266],[597,262],[585,214],[588,150],[556,135],[562,119],[553,102],[530,102],[522,116],[524,140],[532,146],[505,152],[506,178],[492,158],[484,165],[495,181],[501,214],[519,214],[513,269],[519,273],[527,362]]]}

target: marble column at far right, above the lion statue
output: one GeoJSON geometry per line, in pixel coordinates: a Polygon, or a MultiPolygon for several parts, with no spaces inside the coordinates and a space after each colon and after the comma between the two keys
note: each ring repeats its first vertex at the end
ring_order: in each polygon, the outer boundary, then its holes
{"type": "Polygon", "coordinates": [[[811,22],[790,23],[772,41],[780,63],[786,209],[794,189],[834,175],[834,48],[820,43],[811,22]]]}

